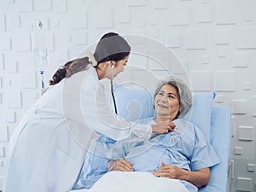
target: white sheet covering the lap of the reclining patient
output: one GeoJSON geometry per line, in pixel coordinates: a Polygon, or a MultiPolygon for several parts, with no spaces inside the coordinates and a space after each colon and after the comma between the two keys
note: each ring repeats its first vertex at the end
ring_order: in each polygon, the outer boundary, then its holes
{"type": "Polygon", "coordinates": [[[176,179],[154,177],[150,172],[108,172],[88,192],[188,192],[176,179]]]}

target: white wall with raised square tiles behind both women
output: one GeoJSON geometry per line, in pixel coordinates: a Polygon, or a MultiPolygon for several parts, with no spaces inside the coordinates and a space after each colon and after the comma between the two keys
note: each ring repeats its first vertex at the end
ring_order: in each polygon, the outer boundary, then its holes
{"type": "MultiPolygon", "coordinates": [[[[255,0],[0,1],[0,189],[9,138],[40,96],[39,71],[47,81],[113,31],[165,44],[186,67],[173,67],[173,73],[184,77],[187,70],[194,91],[214,90],[215,104],[230,106],[230,191],[256,191],[255,8],[255,0]]],[[[168,75],[140,55],[130,63],[168,75]]]]}

